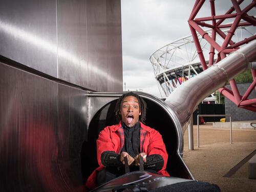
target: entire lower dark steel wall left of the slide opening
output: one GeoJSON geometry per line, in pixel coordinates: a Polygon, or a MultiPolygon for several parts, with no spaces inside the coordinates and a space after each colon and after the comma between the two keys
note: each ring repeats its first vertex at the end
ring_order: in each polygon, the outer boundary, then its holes
{"type": "Polygon", "coordinates": [[[0,191],[84,191],[87,91],[0,62],[0,191]]]}

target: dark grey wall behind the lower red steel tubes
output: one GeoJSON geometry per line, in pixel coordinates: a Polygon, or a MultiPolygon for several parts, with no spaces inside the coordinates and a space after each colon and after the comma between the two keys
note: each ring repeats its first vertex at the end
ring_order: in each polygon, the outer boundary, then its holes
{"type": "MultiPolygon", "coordinates": [[[[244,94],[247,88],[250,86],[250,83],[238,83],[238,90],[240,94],[244,94]]],[[[230,85],[226,86],[230,88],[230,85]]],[[[256,98],[256,91],[255,89],[251,92],[248,97],[249,99],[256,98]]],[[[249,111],[246,109],[242,109],[237,107],[236,104],[231,102],[229,99],[225,98],[225,113],[231,114],[232,121],[251,121],[256,120],[256,113],[253,111],[249,111]]]]}

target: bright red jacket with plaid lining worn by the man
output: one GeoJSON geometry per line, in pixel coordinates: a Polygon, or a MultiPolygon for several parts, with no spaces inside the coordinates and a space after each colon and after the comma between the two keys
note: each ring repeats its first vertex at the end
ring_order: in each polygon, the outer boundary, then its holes
{"type": "MultiPolygon", "coordinates": [[[[168,154],[163,143],[162,136],[158,131],[140,123],[140,143],[141,152],[146,153],[147,156],[153,154],[159,154],[163,157],[163,168],[158,171],[163,176],[169,176],[165,171],[168,154]]],[[[99,167],[89,176],[86,186],[90,189],[96,187],[96,174],[102,170],[104,166],[101,164],[100,157],[104,151],[114,151],[120,154],[124,145],[124,134],[121,122],[118,125],[105,127],[100,133],[97,139],[97,159],[99,167]]]]}

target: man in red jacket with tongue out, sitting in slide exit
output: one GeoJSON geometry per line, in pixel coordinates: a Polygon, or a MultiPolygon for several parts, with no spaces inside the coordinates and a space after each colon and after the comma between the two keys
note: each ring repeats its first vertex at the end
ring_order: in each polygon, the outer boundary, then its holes
{"type": "Polygon", "coordinates": [[[165,171],[167,152],[158,131],[145,126],[146,103],[138,94],[128,92],[117,101],[118,125],[105,127],[97,139],[99,167],[88,178],[86,186],[93,189],[124,174],[124,157],[132,171],[138,171],[139,156],[144,170],[169,176],[165,171]]]}

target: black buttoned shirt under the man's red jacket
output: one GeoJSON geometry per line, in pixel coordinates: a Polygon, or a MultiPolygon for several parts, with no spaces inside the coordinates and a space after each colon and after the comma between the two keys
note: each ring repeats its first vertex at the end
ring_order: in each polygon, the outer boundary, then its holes
{"type": "Polygon", "coordinates": [[[124,132],[124,146],[121,152],[127,152],[132,157],[140,153],[140,122],[137,122],[134,127],[127,127],[122,123],[124,132]]]}

